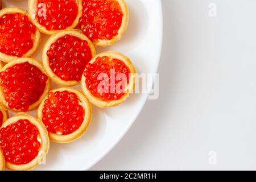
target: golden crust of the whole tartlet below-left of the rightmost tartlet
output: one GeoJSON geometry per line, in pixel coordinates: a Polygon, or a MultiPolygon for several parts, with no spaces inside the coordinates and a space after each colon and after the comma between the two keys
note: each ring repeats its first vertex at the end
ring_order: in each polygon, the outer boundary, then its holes
{"type": "MultiPolygon", "coordinates": [[[[84,107],[85,110],[85,115],[84,115],[84,121],[82,122],[81,126],[79,129],[74,131],[71,134],[68,135],[58,135],[55,133],[48,132],[49,138],[56,143],[70,143],[73,142],[84,135],[85,131],[88,129],[90,125],[90,121],[92,119],[92,107],[90,105],[90,102],[87,100],[87,98],[80,92],[80,90],[77,89],[72,89],[72,88],[59,88],[59,89],[53,89],[50,92],[63,92],[64,90],[67,90],[68,92],[75,93],[76,96],[79,98],[82,106],[84,107]]],[[[44,101],[47,99],[47,96],[44,98],[40,106],[38,107],[38,119],[42,121],[43,119],[43,107],[44,107],[44,101]]]]}

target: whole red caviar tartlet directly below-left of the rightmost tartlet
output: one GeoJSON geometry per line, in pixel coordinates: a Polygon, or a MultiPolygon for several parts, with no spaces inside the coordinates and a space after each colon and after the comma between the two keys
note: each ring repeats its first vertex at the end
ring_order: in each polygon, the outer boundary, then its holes
{"type": "Polygon", "coordinates": [[[87,98],[76,89],[51,90],[38,108],[38,118],[57,143],[79,139],[90,125],[92,108],[87,98]]]}

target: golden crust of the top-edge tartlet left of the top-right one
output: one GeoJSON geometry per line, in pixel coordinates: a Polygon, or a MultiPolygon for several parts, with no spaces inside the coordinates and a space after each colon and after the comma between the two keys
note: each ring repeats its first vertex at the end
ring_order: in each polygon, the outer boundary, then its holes
{"type": "MultiPolygon", "coordinates": [[[[76,1],[77,1],[77,6],[78,6],[76,19],[74,20],[73,24],[71,26],[65,28],[65,30],[76,28],[76,26],[79,24],[79,19],[82,16],[82,0],[76,0],[76,1]]],[[[36,18],[36,11],[38,9],[37,5],[38,5],[38,0],[28,0],[28,9],[29,9],[28,14],[30,16],[30,19],[35,24],[35,26],[38,27],[40,32],[47,34],[47,35],[52,35],[52,34],[56,34],[57,32],[61,31],[61,30],[47,30],[46,27],[42,26],[42,24],[40,24],[38,22],[38,19],[36,18]]]]}

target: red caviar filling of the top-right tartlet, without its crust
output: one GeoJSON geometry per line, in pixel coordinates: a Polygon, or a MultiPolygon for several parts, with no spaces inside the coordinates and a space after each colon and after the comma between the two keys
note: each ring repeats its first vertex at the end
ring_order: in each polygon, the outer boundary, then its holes
{"type": "Polygon", "coordinates": [[[118,34],[123,13],[115,0],[83,0],[80,24],[82,31],[91,40],[111,40],[118,34]]]}

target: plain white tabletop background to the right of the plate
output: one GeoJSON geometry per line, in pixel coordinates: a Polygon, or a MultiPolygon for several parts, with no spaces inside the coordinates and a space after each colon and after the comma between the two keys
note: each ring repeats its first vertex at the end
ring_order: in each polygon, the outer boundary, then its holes
{"type": "Polygon", "coordinates": [[[91,169],[256,169],[256,1],[162,2],[159,99],[91,169]]]}

